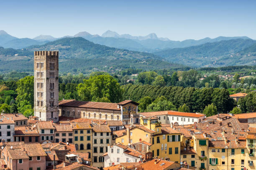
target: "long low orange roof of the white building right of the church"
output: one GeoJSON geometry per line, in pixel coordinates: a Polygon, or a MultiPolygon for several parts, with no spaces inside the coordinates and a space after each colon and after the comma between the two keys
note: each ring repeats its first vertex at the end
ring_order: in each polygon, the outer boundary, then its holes
{"type": "Polygon", "coordinates": [[[204,114],[201,114],[201,113],[177,112],[177,111],[173,111],[173,110],[158,111],[158,112],[143,112],[140,114],[145,117],[153,117],[153,116],[164,115],[164,114],[184,116],[184,117],[203,117],[203,116],[205,116],[204,114]]]}

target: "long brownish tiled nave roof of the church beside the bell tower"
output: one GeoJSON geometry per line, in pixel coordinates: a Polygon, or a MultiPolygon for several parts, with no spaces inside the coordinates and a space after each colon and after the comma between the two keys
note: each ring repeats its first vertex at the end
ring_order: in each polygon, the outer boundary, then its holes
{"type": "Polygon", "coordinates": [[[77,100],[59,101],[59,106],[120,110],[120,108],[118,109],[117,105],[118,104],[116,103],[104,103],[104,102],[94,102],[94,101],[77,101],[77,100]]]}

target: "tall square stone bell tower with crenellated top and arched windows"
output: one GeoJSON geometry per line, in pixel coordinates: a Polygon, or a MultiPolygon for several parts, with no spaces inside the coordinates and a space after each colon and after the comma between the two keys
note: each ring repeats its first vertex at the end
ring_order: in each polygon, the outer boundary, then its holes
{"type": "Polygon", "coordinates": [[[34,51],[34,115],[59,121],[59,51],[34,51]]]}

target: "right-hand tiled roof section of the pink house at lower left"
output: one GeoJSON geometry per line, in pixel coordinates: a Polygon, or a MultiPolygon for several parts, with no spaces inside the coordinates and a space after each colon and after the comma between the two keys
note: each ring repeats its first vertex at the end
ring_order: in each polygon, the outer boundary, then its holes
{"type": "Polygon", "coordinates": [[[43,147],[39,143],[24,144],[22,148],[25,148],[28,156],[46,156],[43,147]]]}

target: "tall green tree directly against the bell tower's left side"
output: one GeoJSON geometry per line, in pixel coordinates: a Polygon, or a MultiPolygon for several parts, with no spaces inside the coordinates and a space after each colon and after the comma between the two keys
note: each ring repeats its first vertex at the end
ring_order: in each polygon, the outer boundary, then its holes
{"type": "Polygon", "coordinates": [[[34,76],[26,76],[17,82],[16,89],[18,96],[17,102],[20,106],[21,101],[28,101],[32,107],[34,105],[34,76]]]}

